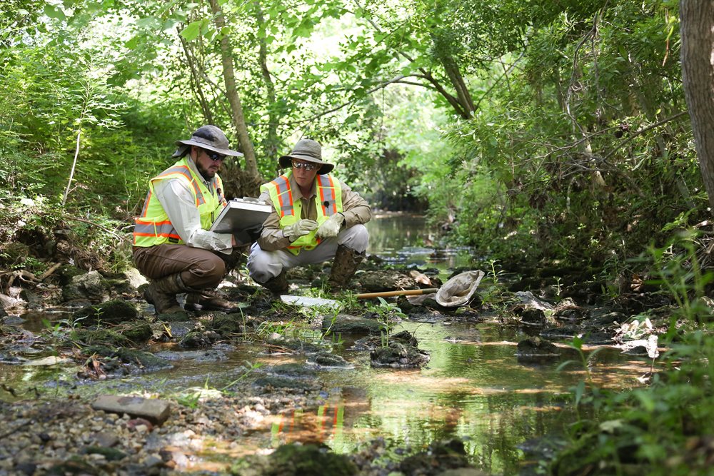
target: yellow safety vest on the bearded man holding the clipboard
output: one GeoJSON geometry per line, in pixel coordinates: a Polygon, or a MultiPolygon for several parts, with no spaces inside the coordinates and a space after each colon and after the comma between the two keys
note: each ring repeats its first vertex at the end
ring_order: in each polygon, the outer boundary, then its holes
{"type": "Polygon", "coordinates": [[[183,240],[178,236],[176,228],[171,224],[169,216],[166,215],[164,207],[154,193],[154,187],[159,181],[178,178],[188,183],[188,188],[193,191],[198,214],[201,216],[201,228],[204,230],[211,228],[213,219],[218,216],[217,212],[226,206],[221,177],[216,175],[216,181],[207,187],[201,177],[193,172],[193,168],[188,166],[189,160],[187,157],[181,158],[149,181],[149,193],[146,194],[144,209],[141,210],[141,216],[134,221],[134,246],[183,244],[183,240]]]}

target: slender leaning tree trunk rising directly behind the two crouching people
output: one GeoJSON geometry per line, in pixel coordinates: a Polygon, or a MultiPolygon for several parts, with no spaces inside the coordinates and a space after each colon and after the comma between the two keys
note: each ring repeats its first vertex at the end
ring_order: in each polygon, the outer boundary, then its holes
{"type": "MultiPolygon", "coordinates": [[[[223,11],[218,5],[218,0],[209,0],[211,2],[211,11],[213,11],[216,22],[216,29],[223,31],[226,22],[223,19],[223,11]]],[[[241,144],[241,151],[246,158],[246,175],[255,183],[255,190],[250,187],[249,194],[257,196],[258,186],[261,183],[261,177],[258,174],[258,163],[256,162],[256,152],[253,149],[253,143],[248,136],[248,127],[246,126],[246,118],[243,116],[243,106],[241,106],[241,98],[238,96],[238,88],[236,88],[236,75],[233,71],[233,51],[231,51],[231,41],[228,35],[221,36],[221,61],[223,61],[223,81],[226,83],[226,94],[228,102],[231,103],[231,112],[233,113],[233,125],[238,132],[238,142],[241,144]]]]}

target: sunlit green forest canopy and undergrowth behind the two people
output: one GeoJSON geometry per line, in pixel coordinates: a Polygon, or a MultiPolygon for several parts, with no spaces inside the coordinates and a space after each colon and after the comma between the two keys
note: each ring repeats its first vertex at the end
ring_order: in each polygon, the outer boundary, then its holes
{"type": "Polygon", "coordinates": [[[126,233],[213,123],[245,154],[231,196],[311,137],[374,208],[486,255],[617,273],[710,213],[673,1],[10,0],[0,23],[8,206],[126,233]]]}

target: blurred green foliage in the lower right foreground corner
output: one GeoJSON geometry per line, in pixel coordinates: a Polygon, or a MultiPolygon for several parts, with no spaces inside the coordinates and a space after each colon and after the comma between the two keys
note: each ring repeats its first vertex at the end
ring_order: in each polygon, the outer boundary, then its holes
{"type": "MultiPolygon", "coordinates": [[[[603,392],[585,381],[573,389],[575,403],[594,412],[573,425],[572,442],[550,464],[550,474],[625,474],[633,468],[663,476],[710,473],[705,442],[714,417],[714,322],[702,293],[713,273],[700,270],[694,236],[650,248],[659,284],[679,304],[665,336],[669,349],[660,356],[663,370],[649,375],[648,387],[623,393],[603,392]]],[[[581,342],[573,346],[588,368],[581,342]]]]}

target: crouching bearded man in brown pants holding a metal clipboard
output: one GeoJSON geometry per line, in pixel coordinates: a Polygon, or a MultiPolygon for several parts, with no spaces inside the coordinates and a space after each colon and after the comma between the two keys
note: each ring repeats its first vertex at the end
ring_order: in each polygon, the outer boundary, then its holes
{"type": "Polygon", "coordinates": [[[178,161],[151,178],[134,226],[134,263],[149,278],[144,298],[157,314],[183,312],[180,293],[186,293],[186,310],[234,310],[237,305],[216,287],[236,265],[236,248],[248,243],[208,228],[226,206],[221,163],[243,154],[229,148],[216,126],[201,126],[176,146],[172,158],[178,161]]]}

